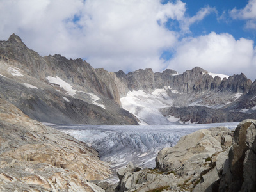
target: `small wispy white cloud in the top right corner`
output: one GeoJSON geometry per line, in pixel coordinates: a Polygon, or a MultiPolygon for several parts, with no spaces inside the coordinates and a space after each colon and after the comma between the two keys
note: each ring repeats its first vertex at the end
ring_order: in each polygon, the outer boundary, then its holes
{"type": "Polygon", "coordinates": [[[233,19],[247,20],[246,28],[256,29],[256,0],[249,0],[245,8],[234,8],[229,13],[233,19]]]}

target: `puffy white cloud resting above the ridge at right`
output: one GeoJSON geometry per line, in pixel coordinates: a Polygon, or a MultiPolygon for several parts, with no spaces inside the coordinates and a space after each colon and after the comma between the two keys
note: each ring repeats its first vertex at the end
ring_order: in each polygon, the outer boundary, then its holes
{"type": "Polygon", "coordinates": [[[227,75],[244,74],[255,79],[255,49],[253,41],[245,38],[236,40],[228,33],[184,38],[177,47],[168,68],[184,70],[200,66],[209,72],[227,75]]]}

